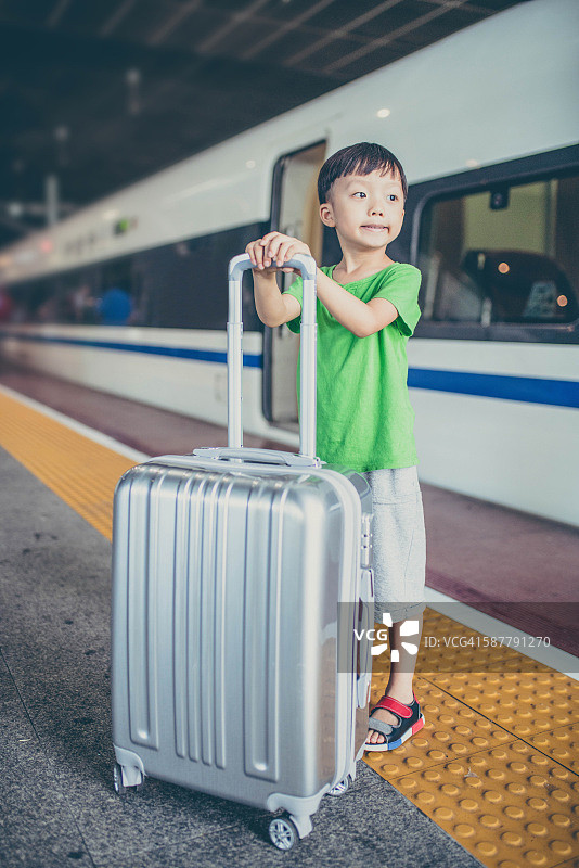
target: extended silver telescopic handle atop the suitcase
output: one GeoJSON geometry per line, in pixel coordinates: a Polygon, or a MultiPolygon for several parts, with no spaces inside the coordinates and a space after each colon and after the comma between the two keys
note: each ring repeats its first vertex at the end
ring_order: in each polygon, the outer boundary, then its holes
{"type": "MultiPolygon", "coordinates": [[[[229,264],[228,316],[228,447],[243,446],[242,421],[242,280],[243,272],[252,268],[247,253],[235,256],[229,264]]],[[[313,256],[298,253],[284,264],[296,268],[304,279],[300,329],[299,379],[299,455],[316,461],[316,260],[313,256]]],[[[241,457],[241,456],[240,456],[241,457]]]]}

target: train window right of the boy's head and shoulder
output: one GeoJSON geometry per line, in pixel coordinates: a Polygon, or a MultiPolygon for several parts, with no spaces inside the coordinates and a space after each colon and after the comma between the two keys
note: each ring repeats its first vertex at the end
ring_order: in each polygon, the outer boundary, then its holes
{"type": "Polygon", "coordinates": [[[430,200],[420,238],[423,319],[574,321],[578,222],[579,176],[430,200]]]}

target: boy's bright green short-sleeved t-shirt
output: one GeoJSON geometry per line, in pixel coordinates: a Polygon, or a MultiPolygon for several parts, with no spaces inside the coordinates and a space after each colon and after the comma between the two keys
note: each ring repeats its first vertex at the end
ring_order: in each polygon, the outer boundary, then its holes
{"type": "MultiPolygon", "coordinates": [[[[321,270],[332,277],[334,268],[321,270]]],[[[345,284],[362,302],[387,298],[398,310],[394,322],[368,337],[348,331],[318,299],[317,452],[323,461],[360,473],[417,463],[407,342],[421,315],[420,284],[419,269],[404,263],[345,284]]],[[[301,304],[300,277],[287,293],[301,304]]],[[[293,332],[300,319],[287,323],[293,332]]]]}

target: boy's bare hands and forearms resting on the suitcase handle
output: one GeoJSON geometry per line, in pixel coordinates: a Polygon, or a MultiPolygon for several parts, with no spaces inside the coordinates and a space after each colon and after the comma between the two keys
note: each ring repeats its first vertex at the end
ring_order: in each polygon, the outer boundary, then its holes
{"type": "MultiPolygon", "coordinates": [[[[293,269],[291,268],[283,268],[283,264],[291,259],[294,254],[306,253],[308,256],[311,256],[310,248],[307,244],[303,241],[298,241],[296,238],[283,235],[281,232],[269,232],[267,235],[263,235],[262,239],[258,239],[248,244],[246,251],[252,256],[252,261],[257,265],[258,269],[257,271],[254,270],[256,307],[258,305],[258,291],[255,281],[257,277],[266,277],[266,275],[263,275],[266,268],[276,266],[282,271],[292,271],[293,269]]],[[[278,289],[273,273],[271,273],[271,279],[275,289],[278,289]]],[[[344,286],[340,286],[339,283],[336,283],[335,280],[324,275],[319,268],[317,283],[320,302],[342,326],[352,332],[357,337],[368,337],[370,334],[375,334],[375,332],[379,332],[398,317],[398,310],[387,298],[371,298],[368,303],[361,302],[345,290],[344,286]]],[[[266,286],[266,284],[262,285],[266,286]]],[[[273,288],[269,292],[273,295],[273,288]]],[[[287,311],[288,315],[286,314],[285,318],[279,321],[268,322],[263,319],[258,308],[259,318],[266,326],[281,326],[282,322],[288,322],[300,314],[299,302],[296,298],[292,295],[281,296],[280,293],[279,295],[281,301],[290,307],[287,311]]],[[[266,290],[263,291],[262,297],[266,297],[266,290]]],[[[271,309],[275,314],[284,316],[282,307],[278,306],[278,303],[275,303],[275,307],[272,306],[271,309]]],[[[274,319],[278,319],[278,317],[274,317],[274,319]]]]}

